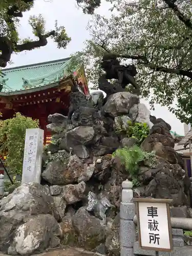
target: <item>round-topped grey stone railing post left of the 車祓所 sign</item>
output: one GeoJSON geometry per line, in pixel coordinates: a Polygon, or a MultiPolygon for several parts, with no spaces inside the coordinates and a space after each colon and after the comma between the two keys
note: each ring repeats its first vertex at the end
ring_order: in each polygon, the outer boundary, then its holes
{"type": "Polygon", "coordinates": [[[136,241],[135,204],[133,203],[133,183],[122,182],[122,197],[120,204],[120,256],[133,256],[133,243],[136,241]]]}

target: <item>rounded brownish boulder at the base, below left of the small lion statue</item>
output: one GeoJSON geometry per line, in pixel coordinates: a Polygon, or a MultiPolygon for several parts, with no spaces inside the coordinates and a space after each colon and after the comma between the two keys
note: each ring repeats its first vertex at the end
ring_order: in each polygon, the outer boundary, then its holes
{"type": "Polygon", "coordinates": [[[96,248],[105,241],[105,228],[100,220],[91,216],[86,208],[81,207],[72,217],[72,223],[78,235],[79,244],[87,250],[96,248]]]}

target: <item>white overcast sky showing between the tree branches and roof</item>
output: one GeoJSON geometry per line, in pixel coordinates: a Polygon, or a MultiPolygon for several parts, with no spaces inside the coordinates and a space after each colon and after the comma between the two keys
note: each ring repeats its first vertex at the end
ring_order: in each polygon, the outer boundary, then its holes
{"type": "MultiPolygon", "coordinates": [[[[109,15],[108,9],[109,5],[103,2],[97,12],[109,15]]],[[[68,35],[72,38],[70,44],[66,50],[58,50],[56,44],[49,39],[46,47],[13,54],[11,59],[13,64],[8,65],[7,68],[69,57],[72,53],[80,51],[84,46],[83,42],[90,38],[86,26],[91,16],[83,14],[82,10],[77,8],[75,0],[36,0],[34,8],[24,13],[24,17],[21,19],[19,27],[20,37],[33,37],[31,27],[28,24],[28,18],[30,15],[37,15],[39,13],[46,18],[47,30],[54,29],[55,19],[58,20],[58,25],[65,26],[68,35]]],[[[147,101],[141,101],[149,107],[147,101]]],[[[181,135],[184,134],[183,124],[167,108],[156,105],[155,111],[152,111],[151,114],[163,118],[172,125],[172,131],[176,131],[181,135]]]]}

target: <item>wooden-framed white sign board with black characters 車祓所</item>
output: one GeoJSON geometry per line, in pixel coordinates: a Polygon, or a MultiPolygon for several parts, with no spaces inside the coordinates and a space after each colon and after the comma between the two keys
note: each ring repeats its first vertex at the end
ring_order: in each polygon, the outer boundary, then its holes
{"type": "Polygon", "coordinates": [[[169,199],[134,198],[139,246],[144,250],[173,250],[169,199]]]}

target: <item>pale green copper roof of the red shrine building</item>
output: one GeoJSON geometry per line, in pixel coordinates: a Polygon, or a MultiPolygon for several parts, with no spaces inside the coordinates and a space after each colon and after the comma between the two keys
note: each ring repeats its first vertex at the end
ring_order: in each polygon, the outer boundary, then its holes
{"type": "Polygon", "coordinates": [[[0,70],[2,93],[23,91],[46,86],[69,76],[67,72],[70,58],[35,63],[27,66],[0,70]]]}

